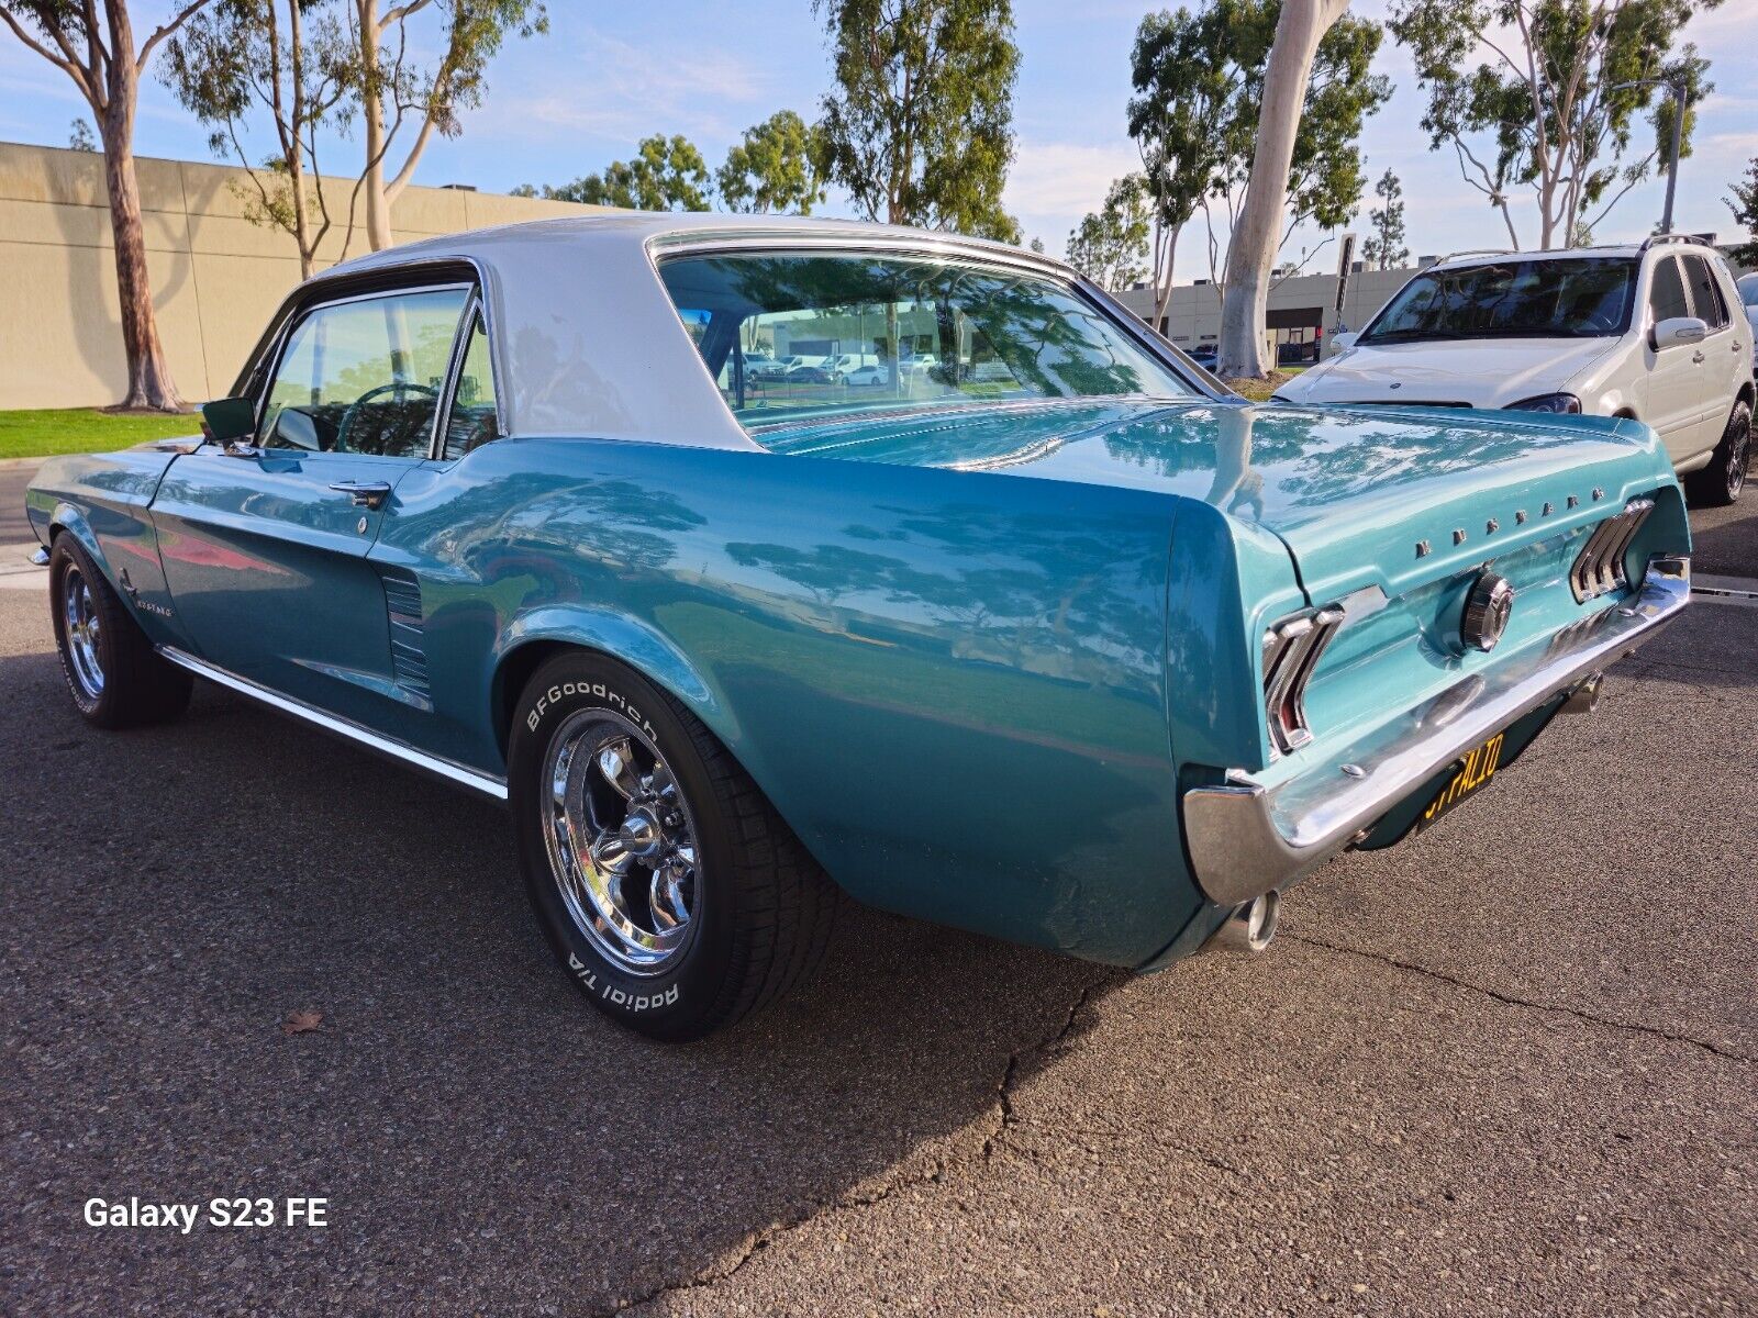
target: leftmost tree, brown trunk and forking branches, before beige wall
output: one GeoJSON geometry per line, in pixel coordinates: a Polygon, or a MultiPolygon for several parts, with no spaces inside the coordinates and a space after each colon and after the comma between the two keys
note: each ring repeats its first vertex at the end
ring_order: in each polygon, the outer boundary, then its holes
{"type": "MultiPolygon", "coordinates": [[[[26,49],[67,74],[91,107],[104,142],[104,186],[109,193],[111,248],[116,258],[116,301],[128,388],[121,408],[178,411],[183,399],[165,364],[153,316],[153,283],[146,267],[141,185],[134,172],[134,116],[141,74],[153,53],[209,0],[181,5],[135,46],[127,0],[0,0],[0,19],[26,49]]],[[[88,135],[90,137],[90,135],[88,135]]],[[[74,135],[76,148],[79,134],[74,135]]]]}

